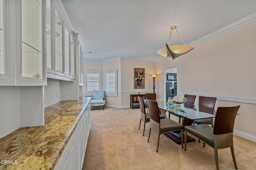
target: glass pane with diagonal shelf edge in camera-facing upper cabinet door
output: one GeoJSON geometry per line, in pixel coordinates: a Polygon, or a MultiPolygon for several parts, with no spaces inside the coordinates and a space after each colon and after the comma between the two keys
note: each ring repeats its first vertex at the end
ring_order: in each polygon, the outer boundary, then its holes
{"type": "Polygon", "coordinates": [[[22,77],[42,79],[42,0],[22,0],[22,77]]]}

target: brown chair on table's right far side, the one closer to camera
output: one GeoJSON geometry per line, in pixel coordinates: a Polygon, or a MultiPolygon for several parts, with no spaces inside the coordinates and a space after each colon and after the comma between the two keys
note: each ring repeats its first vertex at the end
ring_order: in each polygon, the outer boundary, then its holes
{"type": "MultiPolygon", "coordinates": [[[[216,97],[199,96],[198,106],[214,108],[216,99],[217,99],[216,97]]],[[[197,125],[199,124],[212,125],[212,119],[211,118],[198,119],[198,120],[194,120],[194,123],[196,123],[197,125]]]]}

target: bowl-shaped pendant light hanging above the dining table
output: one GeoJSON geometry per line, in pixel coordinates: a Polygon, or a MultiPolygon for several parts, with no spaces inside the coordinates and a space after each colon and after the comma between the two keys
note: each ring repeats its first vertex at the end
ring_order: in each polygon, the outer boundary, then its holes
{"type": "Polygon", "coordinates": [[[172,26],[170,29],[171,29],[171,32],[170,32],[168,43],[165,44],[165,47],[163,47],[163,48],[161,48],[157,51],[157,53],[159,55],[162,55],[164,57],[172,57],[172,59],[176,59],[178,56],[186,54],[187,52],[194,49],[194,47],[192,48],[190,45],[186,45],[184,43],[184,41],[181,38],[180,33],[178,32],[176,26],[172,26]],[[171,40],[172,30],[174,30],[174,29],[177,31],[177,33],[180,36],[180,39],[182,40],[184,45],[168,45],[170,43],[170,40],[171,40]]]}

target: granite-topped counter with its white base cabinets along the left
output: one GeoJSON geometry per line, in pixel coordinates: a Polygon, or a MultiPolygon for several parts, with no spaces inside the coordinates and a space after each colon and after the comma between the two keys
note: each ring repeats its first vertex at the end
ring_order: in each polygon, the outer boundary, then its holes
{"type": "Polygon", "coordinates": [[[44,126],[0,138],[0,169],[81,169],[90,131],[90,97],[44,109],[44,126]]]}

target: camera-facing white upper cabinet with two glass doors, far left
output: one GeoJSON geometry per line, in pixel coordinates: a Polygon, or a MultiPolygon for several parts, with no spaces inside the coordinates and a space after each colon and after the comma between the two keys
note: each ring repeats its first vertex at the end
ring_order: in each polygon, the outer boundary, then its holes
{"type": "Polygon", "coordinates": [[[45,0],[0,0],[0,85],[46,85],[45,0]]]}

